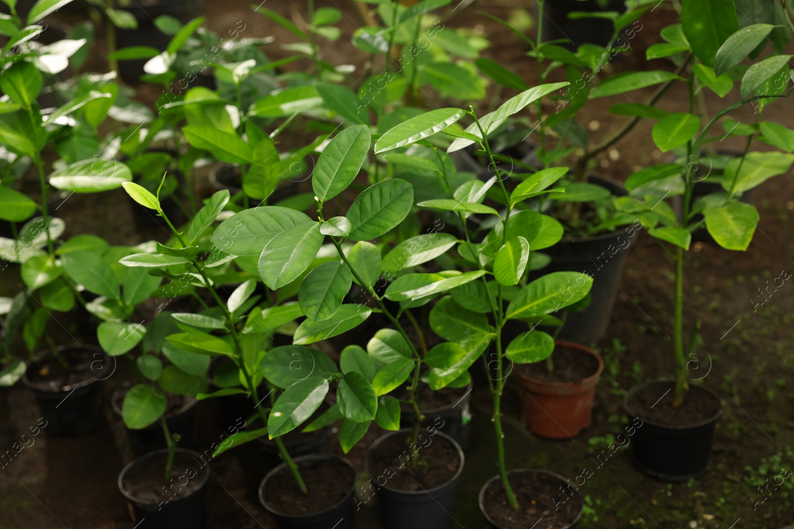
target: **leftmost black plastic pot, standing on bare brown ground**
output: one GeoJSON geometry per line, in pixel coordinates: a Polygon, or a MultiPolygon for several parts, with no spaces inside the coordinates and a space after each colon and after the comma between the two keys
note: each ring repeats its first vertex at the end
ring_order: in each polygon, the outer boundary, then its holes
{"type": "Polygon", "coordinates": [[[22,382],[36,397],[41,416],[47,421],[43,428],[47,435],[85,435],[105,423],[102,381],[112,374],[114,361],[98,347],[58,347],[56,351],[72,367],[87,367],[91,377],[68,385],[31,381],[30,376],[45,364],[57,362],[50,351],[44,351],[29,364],[22,382]]]}

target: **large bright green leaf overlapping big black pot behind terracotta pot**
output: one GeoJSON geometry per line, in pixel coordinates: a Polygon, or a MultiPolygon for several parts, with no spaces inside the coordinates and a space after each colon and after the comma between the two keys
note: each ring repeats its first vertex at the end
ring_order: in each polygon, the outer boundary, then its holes
{"type": "Polygon", "coordinates": [[[576,303],[588,295],[593,278],[580,272],[553,272],[521,289],[507,306],[508,320],[543,316],[576,303]]]}

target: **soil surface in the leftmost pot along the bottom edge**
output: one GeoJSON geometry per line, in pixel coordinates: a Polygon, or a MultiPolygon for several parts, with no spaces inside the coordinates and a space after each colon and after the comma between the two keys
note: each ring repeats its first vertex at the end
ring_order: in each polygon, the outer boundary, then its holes
{"type": "Polygon", "coordinates": [[[204,475],[209,471],[202,467],[187,454],[177,452],[171,469],[171,480],[165,481],[165,462],[168,454],[157,454],[144,462],[133,466],[121,480],[126,493],[143,503],[159,503],[160,501],[186,498],[201,489],[204,475]],[[182,485],[185,483],[185,485],[182,485]],[[168,490],[166,493],[163,490],[168,490]],[[170,495],[170,496],[169,496],[170,495]]]}

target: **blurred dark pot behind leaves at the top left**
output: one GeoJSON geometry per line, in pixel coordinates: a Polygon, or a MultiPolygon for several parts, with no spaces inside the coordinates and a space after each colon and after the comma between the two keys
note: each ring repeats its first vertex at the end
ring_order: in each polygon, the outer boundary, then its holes
{"type": "MultiPolygon", "coordinates": [[[[160,0],[143,5],[133,2],[131,7],[118,7],[135,17],[138,22],[137,29],[116,29],[116,47],[118,49],[128,46],[151,46],[163,51],[171,42],[171,36],[166,35],[157,28],[154,21],[157,17],[168,15],[177,18],[185,24],[193,17],[200,14],[201,0],[160,0]]],[[[147,59],[122,60],[118,63],[118,72],[125,82],[138,82],[144,75],[144,65],[147,59]]]]}

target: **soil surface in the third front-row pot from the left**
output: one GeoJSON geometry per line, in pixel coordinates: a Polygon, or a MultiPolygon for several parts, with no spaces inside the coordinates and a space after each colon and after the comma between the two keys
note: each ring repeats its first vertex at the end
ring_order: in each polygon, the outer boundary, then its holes
{"type": "Polygon", "coordinates": [[[389,489],[418,492],[444,485],[455,476],[461,466],[460,454],[453,443],[441,435],[430,435],[429,431],[423,430],[418,438],[418,454],[427,468],[414,472],[410,464],[401,465],[410,456],[409,443],[410,432],[405,432],[403,435],[391,435],[372,450],[368,461],[372,477],[386,477],[386,486],[389,489]],[[425,440],[424,443],[422,439],[425,440]]]}

